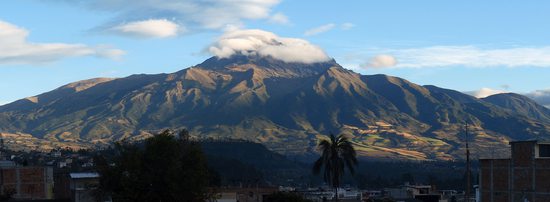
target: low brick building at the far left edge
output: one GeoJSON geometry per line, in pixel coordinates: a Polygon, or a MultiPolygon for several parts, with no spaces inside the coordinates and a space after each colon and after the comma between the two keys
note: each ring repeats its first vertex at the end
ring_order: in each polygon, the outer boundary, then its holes
{"type": "Polygon", "coordinates": [[[14,193],[17,200],[53,199],[52,167],[21,167],[3,161],[0,166],[0,194],[14,193]]]}

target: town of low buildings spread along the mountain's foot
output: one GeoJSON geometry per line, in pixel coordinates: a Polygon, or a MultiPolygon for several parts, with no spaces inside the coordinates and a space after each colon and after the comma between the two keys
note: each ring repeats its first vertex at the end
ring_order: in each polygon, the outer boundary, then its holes
{"type": "MultiPolygon", "coordinates": [[[[3,139],[0,139],[3,142],[3,139]]],[[[511,142],[511,157],[479,159],[471,194],[465,189],[440,189],[436,184],[410,180],[388,187],[355,185],[338,187],[339,201],[545,201],[550,196],[550,142],[511,142]]],[[[2,145],[3,146],[3,145],[2,145]]],[[[237,151],[239,152],[239,151],[237,151]]],[[[241,151],[246,152],[246,151],[241,151]]],[[[0,194],[2,200],[16,201],[111,201],[96,198],[100,173],[95,156],[101,152],[55,149],[50,152],[8,151],[2,147],[0,194]]],[[[477,160],[476,160],[477,161],[477,160]]],[[[463,164],[462,162],[461,164],[463,164]]],[[[465,173],[463,168],[456,172],[465,173]]],[[[350,176],[352,178],[357,177],[350,176]]],[[[208,201],[275,201],[277,194],[295,195],[303,201],[331,201],[334,189],[319,183],[278,182],[280,184],[240,182],[219,184],[208,201]]]]}

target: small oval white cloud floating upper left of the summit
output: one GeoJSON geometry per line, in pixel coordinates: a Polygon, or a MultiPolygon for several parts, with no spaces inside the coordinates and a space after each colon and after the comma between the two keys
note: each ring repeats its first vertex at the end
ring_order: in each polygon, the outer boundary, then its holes
{"type": "Polygon", "coordinates": [[[112,31],[128,36],[167,38],[174,37],[185,31],[180,25],[166,20],[143,20],[122,24],[112,28],[112,31]]]}

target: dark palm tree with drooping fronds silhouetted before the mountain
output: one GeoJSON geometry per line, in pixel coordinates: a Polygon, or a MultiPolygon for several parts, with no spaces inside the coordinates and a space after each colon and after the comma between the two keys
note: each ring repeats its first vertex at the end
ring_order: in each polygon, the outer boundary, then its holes
{"type": "Polygon", "coordinates": [[[357,158],[355,149],[344,135],[321,140],[317,145],[322,154],[313,165],[313,174],[318,175],[323,170],[325,182],[335,188],[336,201],[338,201],[338,187],[344,176],[345,167],[354,174],[357,158]]]}

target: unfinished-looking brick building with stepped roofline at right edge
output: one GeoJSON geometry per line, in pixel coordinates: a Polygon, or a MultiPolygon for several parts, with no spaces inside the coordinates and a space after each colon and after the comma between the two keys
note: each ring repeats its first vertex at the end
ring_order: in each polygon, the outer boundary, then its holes
{"type": "Polygon", "coordinates": [[[550,142],[510,142],[510,159],[480,159],[480,201],[550,201],[550,142]]]}

